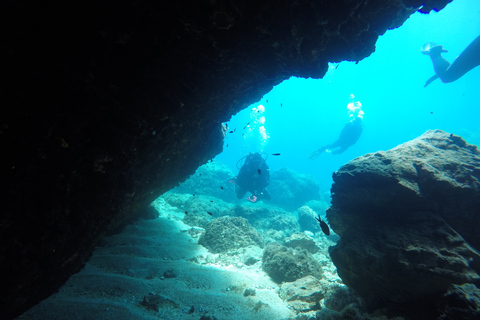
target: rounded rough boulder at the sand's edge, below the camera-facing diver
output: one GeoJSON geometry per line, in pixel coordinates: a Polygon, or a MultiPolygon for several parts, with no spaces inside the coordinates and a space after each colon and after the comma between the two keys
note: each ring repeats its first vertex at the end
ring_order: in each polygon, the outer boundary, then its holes
{"type": "Polygon", "coordinates": [[[198,243],[213,253],[256,245],[263,248],[262,236],[240,217],[221,217],[210,221],[198,243]]]}

